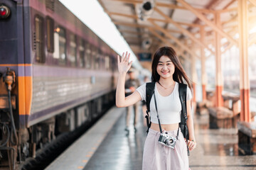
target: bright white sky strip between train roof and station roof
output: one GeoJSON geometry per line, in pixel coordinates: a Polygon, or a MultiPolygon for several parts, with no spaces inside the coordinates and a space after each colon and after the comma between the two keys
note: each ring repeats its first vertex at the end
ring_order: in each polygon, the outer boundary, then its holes
{"type": "Polygon", "coordinates": [[[97,0],[59,0],[72,13],[75,14],[87,27],[104,40],[119,55],[122,52],[130,52],[133,67],[142,69],[136,55],[119,33],[114,23],[104,12],[97,0]]]}

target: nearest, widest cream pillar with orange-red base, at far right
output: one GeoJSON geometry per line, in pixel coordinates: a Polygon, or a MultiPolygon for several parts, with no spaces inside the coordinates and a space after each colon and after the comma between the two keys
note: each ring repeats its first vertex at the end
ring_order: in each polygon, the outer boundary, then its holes
{"type": "Polygon", "coordinates": [[[240,120],[250,122],[250,81],[248,77],[248,5],[245,0],[238,0],[238,28],[240,55],[240,120]]]}

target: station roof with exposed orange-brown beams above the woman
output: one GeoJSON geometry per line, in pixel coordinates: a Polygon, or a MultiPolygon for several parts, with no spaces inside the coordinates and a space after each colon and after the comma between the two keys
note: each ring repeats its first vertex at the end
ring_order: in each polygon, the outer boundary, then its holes
{"type": "MultiPolygon", "coordinates": [[[[191,50],[194,47],[204,47],[214,54],[215,32],[226,39],[222,42],[223,50],[238,45],[237,0],[98,1],[136,55],[154,53],[161,45],[175,47],[180,54],[186,51],[196,55],[191,50]],[[142,6],[146,1],[152,9],[144,13],[142,6]],[[220,18],[218,23],[216,18],[220,18]]],[[[249,0],[248,4],[250,23],[250,19],[256,18],[256,1],[249,0]]]]}

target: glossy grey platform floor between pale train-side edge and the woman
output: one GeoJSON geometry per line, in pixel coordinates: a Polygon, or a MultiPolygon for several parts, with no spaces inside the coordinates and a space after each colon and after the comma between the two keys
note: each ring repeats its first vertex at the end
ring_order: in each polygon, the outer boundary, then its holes
{"type": "MultiPolygon", "coordinates": [[[[129,135],[124,131],[125,113],[117,120],[100,147],[91,157],[85,169],[93,170],[137,170],[142,169],[142,154],[144,140],[146,139],[146,128],[140,120],[137,125],[137,132],[129,128],[129,135]]],[[[133,118],[131,118],[133,120],[133,118]]]]}

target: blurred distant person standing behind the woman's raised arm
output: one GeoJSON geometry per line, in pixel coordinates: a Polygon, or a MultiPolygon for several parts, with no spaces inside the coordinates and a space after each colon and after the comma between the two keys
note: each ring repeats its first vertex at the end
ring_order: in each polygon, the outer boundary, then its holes
{"type": "MultiPolygon", "coordinates": [[[[125,81],[125,96],[131,95],[136,89],[139,87],[139,79],[135,76],[135,70],[130,69],[129,72],[129,79],[125,81]]],[[[127,134],[129,134],[129,122],[130,122],[130,117],[132,115],[132,112],[134,113],[134,120],[133,120],[133,125],[134,125],[134,131],[137,131],[136,125],[137,125],[137,120],[138,120],[138,115],[139,115],[139,103],[135,103],[132,106],[127,107],[127,113],[125,116],[125,129],[127,131],[127,134]]]]}

